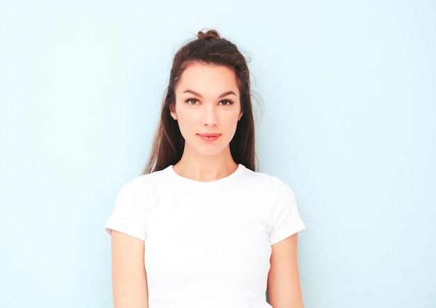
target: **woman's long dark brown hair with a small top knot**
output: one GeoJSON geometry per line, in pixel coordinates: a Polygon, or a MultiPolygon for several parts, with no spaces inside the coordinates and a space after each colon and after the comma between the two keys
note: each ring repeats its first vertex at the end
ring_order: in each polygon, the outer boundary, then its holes
{"type": "Polygon", "coordinates": [[[171,164],[176,164],[182,157],[185,139],[180,133],[177,121],[171,118],[170,107],[176,104],[175,88],[180,75],[188,66],[195,63],[226,66],[235,72],[243,116],[238,121],[235,136],[230,142],[231,154],[236,163],[255,171],[254,115],[247,61],[235,44],[221,38],[217,31],[209,30],[205,33],[199,31],[196,40],[181,47],[174,56],[159,125],[143,174],[165,169],[171,164]]]}

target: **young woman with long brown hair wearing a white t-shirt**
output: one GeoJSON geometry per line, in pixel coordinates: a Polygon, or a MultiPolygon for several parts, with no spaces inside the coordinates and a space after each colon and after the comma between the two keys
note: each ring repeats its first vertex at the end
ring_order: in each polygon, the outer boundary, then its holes
{"type": "Polygon", "coordinates": [[[304,224],[255,158],[247,62],[217,31],[199,32],[174,57],[144,175],[106,225],[114,307],[303,307],[304,224]]]}

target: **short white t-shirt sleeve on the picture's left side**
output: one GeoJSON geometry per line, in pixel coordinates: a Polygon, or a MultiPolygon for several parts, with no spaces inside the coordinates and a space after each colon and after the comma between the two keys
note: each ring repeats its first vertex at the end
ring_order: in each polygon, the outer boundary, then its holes
{"type": "Polygon", "coordinates": [[[116,198],[114,211],[104,226],[107,233],[115,230],[146,240],[146,198],[146,185],[140,177],[124,185],[116,198]]]}

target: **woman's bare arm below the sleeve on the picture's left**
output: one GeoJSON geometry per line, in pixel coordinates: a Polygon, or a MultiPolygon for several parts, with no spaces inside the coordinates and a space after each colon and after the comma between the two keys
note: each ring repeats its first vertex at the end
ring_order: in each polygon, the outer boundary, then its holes
{"type": "Polygon", "coordinates": [[[114,308],[147,308],[143,240],[113,230],[111,247],[114,308]]]}

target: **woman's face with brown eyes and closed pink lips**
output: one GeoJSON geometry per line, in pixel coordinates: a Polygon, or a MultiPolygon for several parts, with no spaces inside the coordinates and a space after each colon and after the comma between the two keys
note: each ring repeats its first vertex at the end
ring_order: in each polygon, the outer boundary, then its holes
{"type": "Polygon", "coordinates": [[[185,139],[184,155],[230,153],[242,116],[235,72],[225,66],[193,64],[180,76],[171,116],[185,139]]]}

